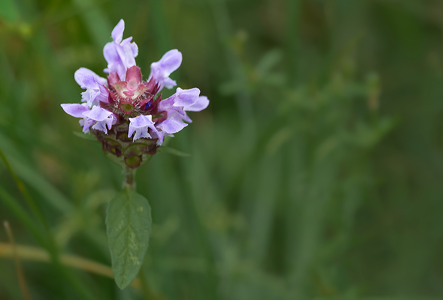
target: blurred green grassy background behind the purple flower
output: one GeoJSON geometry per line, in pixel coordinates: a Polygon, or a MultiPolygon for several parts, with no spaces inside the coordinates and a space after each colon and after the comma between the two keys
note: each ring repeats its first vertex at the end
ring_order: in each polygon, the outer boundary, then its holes
{"type": "MultiPolygon", "coordinates": [[[[0,150],[29,193],[2,160],[17,244],[51,232],[58,254],[110,265],[123,177],[60,104],[80,102],[80,67],[105,75],[120,18],[144,78],[177,48],[171,77],[211,102],[169,143],[190,156],[137,173],[150,291],[22,259],[33,300],[442,299],[440,0],[0,0],[0,150]]],[[[23,299],[6,256],[0,299],[23,299]]]]}

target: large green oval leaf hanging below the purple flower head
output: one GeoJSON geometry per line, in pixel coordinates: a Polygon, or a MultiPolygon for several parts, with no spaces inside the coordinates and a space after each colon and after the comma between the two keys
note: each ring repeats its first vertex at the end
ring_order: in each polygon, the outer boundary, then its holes
{"type": "Polygon", "coordinates": [[[131,284],[142,266],[151,226],[148,200],[131,188],[126,187],[110,201],[106,234],[114,280],[121,290],[131,284]]]}

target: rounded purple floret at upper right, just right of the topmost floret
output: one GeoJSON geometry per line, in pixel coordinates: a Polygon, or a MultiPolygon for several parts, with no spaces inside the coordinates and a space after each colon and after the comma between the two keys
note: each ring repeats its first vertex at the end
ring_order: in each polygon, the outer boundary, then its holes
{"type": "Polygon", "coordinates": [[[151,74],[149,78],[154,77],[160,84],[160,89],[163,86],[172,88],[177,85],[177,82],[169,77],[171,73],[176,71],[181,65],[181,52],[177,49],[168,51],[163,55],[160,61],[151,64],[151,74]]]}

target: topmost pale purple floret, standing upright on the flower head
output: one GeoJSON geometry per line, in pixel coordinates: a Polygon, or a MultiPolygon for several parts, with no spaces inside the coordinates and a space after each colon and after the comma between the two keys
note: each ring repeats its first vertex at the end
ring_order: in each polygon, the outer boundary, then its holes
{"type": "Polygon", "coordinates": [[[108,63],[106,73],[117,72],[121,79],[125,79],[126,69],[135,66],[135,57],[138,55],[138,47],[131,43],[132,36],[123,39],[125,22],[121,19],[112,30],[113,42],[104,45],[103,56],[108,63]]]}

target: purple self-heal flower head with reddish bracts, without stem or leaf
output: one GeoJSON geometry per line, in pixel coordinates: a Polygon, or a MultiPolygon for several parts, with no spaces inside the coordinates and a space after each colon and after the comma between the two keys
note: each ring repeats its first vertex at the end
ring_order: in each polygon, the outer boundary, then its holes
{"type": "MultiPolygon", "coordinates": [[[[82,104],[62,104],[63,110],[80,118],[84,133],[94,134],[105,152],[116,156],[127,167],[137,168],[146,155],[153,155],[166,136],[173,136],[191,123],[186,111],[201,111],[209,100],[196,87],[181,89],[162,100],[163,87],[177,82],[170,75],[181,65],[177,49],[151,64],[147,81],[135,58],[138,47],[132,37],[123,39],[125,23],[120,20],[111,33],[112,41],[103,48],[107,78],[80,68],[74,78],[83,89],[82,104]],[[184,122],[183,122],[184,121],[184,122]],[[134,143],[134,144],[133,144],[134,143]]],[[[109,158],[110,156],[107,155],[109,158]]]]}

